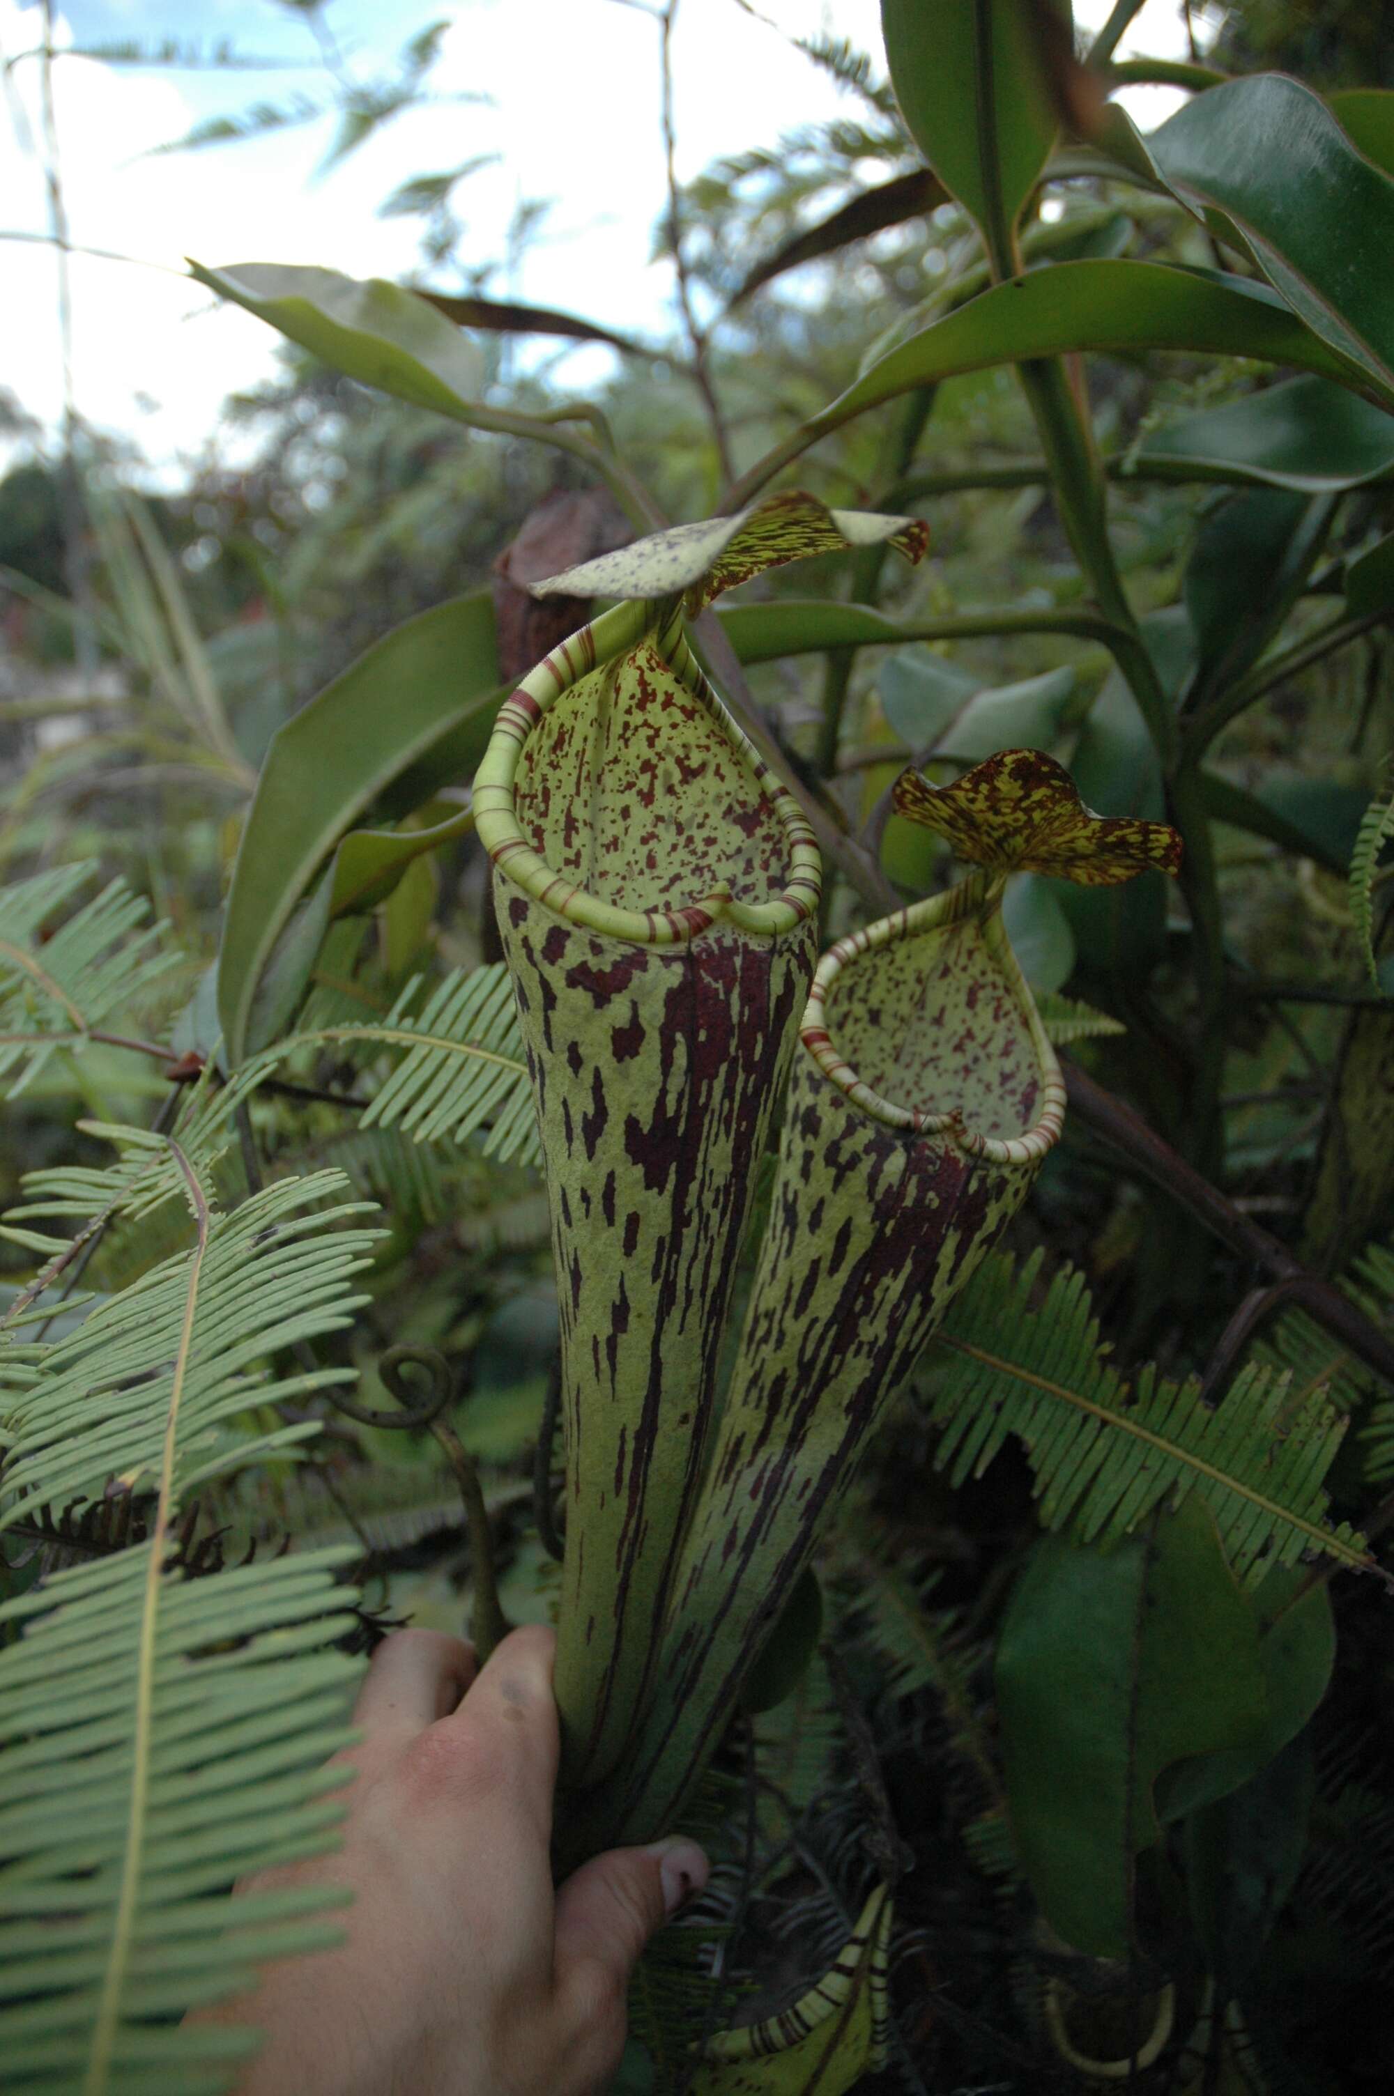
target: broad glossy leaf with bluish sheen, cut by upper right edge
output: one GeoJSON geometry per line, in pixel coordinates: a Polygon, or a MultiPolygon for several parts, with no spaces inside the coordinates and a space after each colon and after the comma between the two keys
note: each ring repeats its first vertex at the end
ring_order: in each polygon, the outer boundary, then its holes
{"type": "Polygon", "coordinates": [[[1323,99],[1285,73],[1228,80],[1147,147],[1172,193],[1201,218],[1218,208],[1308,327],[1394,398],[1394,180],[1323,99]]]}

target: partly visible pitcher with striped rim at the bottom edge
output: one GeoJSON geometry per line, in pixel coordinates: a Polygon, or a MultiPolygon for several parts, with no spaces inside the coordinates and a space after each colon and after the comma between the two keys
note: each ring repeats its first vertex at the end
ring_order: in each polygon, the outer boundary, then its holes
{"type": "Polygon", "coordinates": [[[891,2037],[891,1895],[878,1884],[824,1977],[763,2023],[717,2031],[690,2096],[847,2096],[885,2067],[891,2037]]]}

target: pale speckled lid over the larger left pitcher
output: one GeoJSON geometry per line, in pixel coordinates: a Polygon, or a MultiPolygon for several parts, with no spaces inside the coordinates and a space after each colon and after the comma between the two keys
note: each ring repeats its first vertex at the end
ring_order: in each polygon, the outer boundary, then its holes
{"type": "Polygon", "coordinates": [[[815,495],[794,488],[771,495],[748,509],[700,524],[635,539],[614,553],[600,553],[545,583],[530,583],[535,597],[683,597],[688,614],[719,597],[723,589],[748,583],[765,568],[815,553],[845,553],[859,545],[893,545],[916,562],[929,545],[922,518],[885,518],[864,509],[828,509],[815,495]]]}

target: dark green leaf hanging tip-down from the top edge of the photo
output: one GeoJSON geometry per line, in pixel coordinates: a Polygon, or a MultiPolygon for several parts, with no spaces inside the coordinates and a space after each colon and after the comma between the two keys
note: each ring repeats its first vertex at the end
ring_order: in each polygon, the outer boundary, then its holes
{"type": "MultiPolygon", "coordinates": [[[[1069,8],[1057,13],[1067,38],[1069,8]]],[[[1031,10],[1015,0],[883,0],[880,25],[910,136],[987,247],[1002,245],[1057,132],[1031,10]]]]}

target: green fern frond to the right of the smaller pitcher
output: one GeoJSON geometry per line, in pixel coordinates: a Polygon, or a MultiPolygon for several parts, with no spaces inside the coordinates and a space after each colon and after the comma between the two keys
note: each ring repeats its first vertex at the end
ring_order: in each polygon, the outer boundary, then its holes
{"type": "Polygon", "coordinates": [[[983,1262],[927,1356],[929,1413],[943,1427],[935,1461],[954,1484],[981,1476],[1015,1434],[1046,1528],[1113,1543],[1163,1501],[1199,1492],[1247,1587],[1308,1549],[1373,1570],[1350,1524],[1325,1522],[1321,1486],[1346,1421],[1321,1394],[1291,1404],[1287,1379],[1258,1367],[1214,1411],[1195,1379],[1168,1383],[1151,1367],[1128,1388],[1080,1274],[1057,1274],[1031,1308],[1040,1264],[983,1262]]]}

